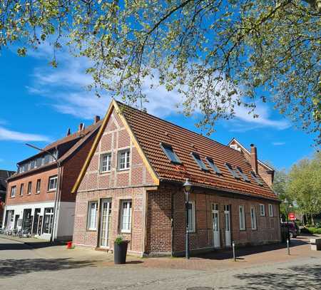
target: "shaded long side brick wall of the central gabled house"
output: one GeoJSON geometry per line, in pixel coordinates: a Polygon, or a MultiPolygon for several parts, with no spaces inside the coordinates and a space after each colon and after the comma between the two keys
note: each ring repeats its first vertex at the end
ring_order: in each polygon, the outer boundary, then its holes
{"type": "MultiPolygon", "coordinates": [[[[232,195],[232,194],[231,194],[232,195]]],[[[179,187],[162,185],[160,190],[148,192],[147,253],[171,251],[171,202],[173,198],[173,251],[185,250],[185,196],[179,187]],[[173,195],[173,197],[172,197],[173,195]]],[[[213,247],[212,204],[217,203],[220,223],[220,246],[225,247],[224,205],[230,204],[231,241],[238,244],[265,244],[280,241],[278,203],[255,198],[227,197],[218,192],[198,190],[190,194],[195,202],[195,232],[190,233],[190,249],[213,247]],[[265,204],[265,217],[260,216],[260,205],[265,204]],[[273,205],[269,217],[268,204],[273,205]],[[239,205],[245,207],[245,230],[240,231],[239,205]],[[250,221],[250,207],[255,207],[257,229],[250,221]]]]}

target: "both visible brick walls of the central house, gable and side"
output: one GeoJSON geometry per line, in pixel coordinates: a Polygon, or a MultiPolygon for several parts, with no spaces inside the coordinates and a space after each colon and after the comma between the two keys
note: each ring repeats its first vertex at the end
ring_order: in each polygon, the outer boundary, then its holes
{"type": "MultiPolygon", "coordinates": [[[[108,249],[121,235],[130,241],[129,252],[135,254],[183,254],[185,249],[185,195],[181,183],[161,182],[156,186],[146,163],[138,153],[126,124],[113,110],[96,147],[81,184],[76,192],[73,243],[101,247],[101,200],[111,200],[111,227],[108,249]],[[119,171],[118,150],[130,149],[130,168],[119,171]],[[100,173],[101,154],[111,153],[111,171],[100,173]],[[132,200],[130,233],[122,233],[121,200],[132,200]],[[88,203],[98,202],[97,227],[88,229],[88,203]]],[[[230,205],[231,239],[238,244],[263,244],[280,241],[279,206],[277,200],[250,197],[216,190],[193,188],[190,200],[195,204],[195,232],[190,234],[190,249],[213,249],[212,204],[218,204],[220,247],[225,247],[224,205],[230,205]],[[240,230],[239,205],[245,208],[245,230],[240,230]],[[265,204],[260,216],[259,204],[265,204]],[[273,216],[269,217],[268,204],[273,216]],[[257,229],[252,229],[250,207],[255,207],[257,229]]],[[[104,247],[105,248],[105,247],[104,247]]]]}

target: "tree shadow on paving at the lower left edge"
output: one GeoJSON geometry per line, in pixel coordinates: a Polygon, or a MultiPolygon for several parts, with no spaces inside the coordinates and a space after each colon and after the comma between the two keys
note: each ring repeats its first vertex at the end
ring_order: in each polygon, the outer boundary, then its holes
{"type": "Polygon", "coordinates": [[[93,266],[95,261],[72,261],[71,259],[5,259],[0,264],[0,279],[35,271],[58,271],[93,266]]]}

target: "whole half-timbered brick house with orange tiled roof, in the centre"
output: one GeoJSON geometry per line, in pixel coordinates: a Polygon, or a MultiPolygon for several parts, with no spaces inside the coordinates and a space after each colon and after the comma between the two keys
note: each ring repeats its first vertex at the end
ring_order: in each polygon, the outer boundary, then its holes
{"type": "Polygon", "coordinates": [[[121,235],[131,254],[183,254],[186,178],[192,251],[280,241],[279,202],[252,151],[113,100],[73,187],[73,243],[113,249],[121,235]]]}

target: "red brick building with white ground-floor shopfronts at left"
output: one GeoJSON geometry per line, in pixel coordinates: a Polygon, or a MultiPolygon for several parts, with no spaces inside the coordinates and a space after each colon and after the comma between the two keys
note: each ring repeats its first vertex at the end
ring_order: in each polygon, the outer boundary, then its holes
{"type": "Polygon", "coordinates": [[[72,239],[71,189],[100,125],[97,116],[88,128],[81,123],[76,133],[68,129],[65,138],[17,164],[16,174],[8,179],[4,228],[22,229],[42,239],[72,239]]]}

